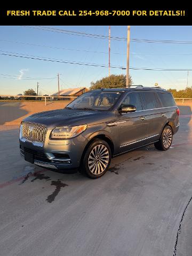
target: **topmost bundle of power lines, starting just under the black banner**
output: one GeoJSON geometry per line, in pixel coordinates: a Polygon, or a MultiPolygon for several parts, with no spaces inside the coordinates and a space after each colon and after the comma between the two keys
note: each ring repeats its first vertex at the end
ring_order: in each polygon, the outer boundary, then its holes
{"type": "MultiPolygon", "coordinates": [[[[45,30],[45,31],[68,34],[68,35],[75,35],[75,36],[93,37],[93,38],[99,38],[99,39],[108,39],[108,36],[105,36],[105,35],[89,34],[89,33],[84,33],[84,32],[79,32],[79,31],[58,29],[58,28],[52,28],[52,27],[44,27],[44,26],[36,26],[36,27],[22,26],[22,27],[45,30]]],[[[111,36],[111,40],[126,41],[126,37],[111,36]]],[[[136,43],[192,44],[192,41],[161,40],[161,39],[132,38],[132,39],[130,39],[130,41],[131,42],[136,42],[136,43]]]]}

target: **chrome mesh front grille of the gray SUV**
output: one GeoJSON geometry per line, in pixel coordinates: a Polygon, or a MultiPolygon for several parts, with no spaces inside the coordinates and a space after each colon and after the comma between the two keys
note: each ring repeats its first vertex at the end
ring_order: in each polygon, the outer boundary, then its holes
{"type": "Polygon", "coordinates": [[[46,126],[30,122],[22,122],[22,137],[37,142],[44,142],[46,136],[46,126]]]}

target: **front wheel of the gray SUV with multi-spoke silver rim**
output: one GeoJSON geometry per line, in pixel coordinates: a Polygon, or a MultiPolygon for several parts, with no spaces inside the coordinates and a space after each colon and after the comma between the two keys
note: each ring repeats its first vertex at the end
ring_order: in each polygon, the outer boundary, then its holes
{"type": "Polygon", "coordinates": [[[90,179],[104,175],[110,165],[111,149],[105,140],[95,139],[87,148],[83,157],[81,171],[90,179]]]}

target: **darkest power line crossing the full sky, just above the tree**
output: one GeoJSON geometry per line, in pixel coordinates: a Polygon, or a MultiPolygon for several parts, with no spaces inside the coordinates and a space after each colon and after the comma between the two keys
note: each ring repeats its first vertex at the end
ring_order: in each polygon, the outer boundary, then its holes
{"type": "MultiPolygon", "coordinates": [[[[79,62],[71,62],[71,61],[61,61],[61,60],[55,60],[55,59],[50,59],[50,58],[35,58],[35,57],[27,57],[27,56],[20,56],[20,55],[15,55],[15,54],[7,54],[7,53],[0,53],[0,55],[5,55],[5,56],[10,56],[10,57],[19,57],[19,58],[25,58],[25,59],[33,59],[33,60],[43,60],[43,61],[50,61],[50,62],[59,62],[59,63],[68,63],[68,64],[75,64],[75,65],[84,65],[84,66],[93,66],[93,67],[103,67],[103,68],[108,68],[107,65],[99,65],[99,64],[92,64],[92,63],[79,63],[79,62]]],[[[119,69],[126,69],[126,67],[121,67],[121,66],[110,66],[111,68],[119,68],[119,69]]],[[[130,67],[130,69],[134,70],[155,70],[155,71],[192,71],[192,69],[187,68],[187,69],[179,69],[179,68],[146,68],[146,67],[130,67]]]]}

